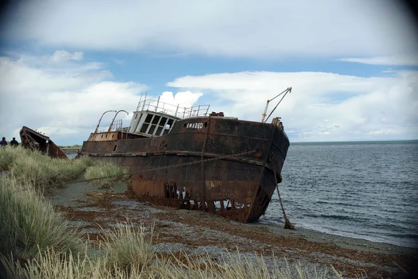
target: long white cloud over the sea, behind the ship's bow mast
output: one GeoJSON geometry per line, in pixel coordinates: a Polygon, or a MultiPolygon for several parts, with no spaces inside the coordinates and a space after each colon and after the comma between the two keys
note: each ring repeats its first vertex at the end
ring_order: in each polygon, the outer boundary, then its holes
{"type": "Polygon", "coordinates": [[[282,118],[291,141],[418,138],[418,72],[236,72],[180,77],[167,86],[212,95],[211,110],[254,121],[261,121],[268,99],[292,86],[272,115],[282,118]]]}

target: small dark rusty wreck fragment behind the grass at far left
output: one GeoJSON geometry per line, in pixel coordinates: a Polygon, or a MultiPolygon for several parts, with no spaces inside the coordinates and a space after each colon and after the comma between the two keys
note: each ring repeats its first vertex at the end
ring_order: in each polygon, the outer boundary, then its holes
{"type": "Polygon", "coordinates": [[[24,148],[40,150],[40,152],[52,158],[68,159],[67,155],[48,136],[40,134],[38,131],[34,131],[26,126],[20,129],[19,134],[24,148]]]}

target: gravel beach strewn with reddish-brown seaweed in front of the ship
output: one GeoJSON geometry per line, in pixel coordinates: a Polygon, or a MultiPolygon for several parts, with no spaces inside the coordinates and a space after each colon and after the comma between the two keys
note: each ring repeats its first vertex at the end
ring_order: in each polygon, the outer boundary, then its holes
{"type": "Polygon", "coordinates": [[[312,274],[326,270],[326,278],[336,278],[331,266],[343,278],[408,278],[417,262],[414,248],[302,228],[242,224],[205,212],[151,205],[139,201],[124,183],[111,189],[73,183],[52,189],[47,198],[90,239],[127,220],[154,226],[154,248],[161,254],[208,253],[212,260],[222,260],[226,251],[238,249],[247,260],[254,259],[254,253],[263,255],[269,268],[274,267],[275,257],[282,264],[278,268],[284,268],[287,261],[294,275],[295,264],[300,264],[312,274]]]}

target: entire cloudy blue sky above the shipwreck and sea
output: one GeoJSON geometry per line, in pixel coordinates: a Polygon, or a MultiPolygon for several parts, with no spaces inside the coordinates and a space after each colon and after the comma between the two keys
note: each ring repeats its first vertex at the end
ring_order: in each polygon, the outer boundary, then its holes
{"type": "Polygon", "coordinates": [[[418,139],[418,31],[396,1],[26,0],[0,18],[8,141],[82,144],[145,93],[259,122],[288,87],[272,117],[291,143],[418,139]]]}

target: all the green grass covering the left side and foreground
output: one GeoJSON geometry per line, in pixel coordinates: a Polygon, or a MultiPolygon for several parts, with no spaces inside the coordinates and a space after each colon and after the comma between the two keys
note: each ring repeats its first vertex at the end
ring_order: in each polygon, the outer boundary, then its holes
{"type": "MultiPolygon", "coordinates": [[[[54,212],[39,189],[59,180],[125,173],[110,164],[51,159],[20,148],[1,150],[0,265],[8,278],[293,278],[291,268],[268,267],[262,256],[227,253],[159,255],[153,250],[153,228],[118,223],[96,242],[83,241],[77,229],[54,212]],[[88,174],[88,175],[87,175],[88,174]]],[[[61,181],[62,182],[62,181],[61,181]]],[[[2,270],[0,269],[0,270],[2,270]]],[[[297,265],[297,278],[325,278],[325,273],[297,265]]],[[[336,271],[335,275],[341,278],[336,271]]]]}

